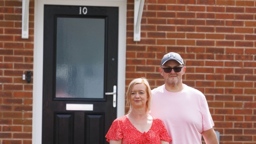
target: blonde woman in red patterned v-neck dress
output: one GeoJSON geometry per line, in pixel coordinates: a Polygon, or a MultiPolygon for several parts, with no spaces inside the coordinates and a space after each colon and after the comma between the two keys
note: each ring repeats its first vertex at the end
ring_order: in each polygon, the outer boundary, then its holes
{"type": "Polygon", "coordinates": [[[152,101],[149,83],[145,78],[134,79],[126,92],[128,114],[116,118],[106,138],[110,144],[145,144],[171,141],[164,123],[148,114],[152,101]]]}

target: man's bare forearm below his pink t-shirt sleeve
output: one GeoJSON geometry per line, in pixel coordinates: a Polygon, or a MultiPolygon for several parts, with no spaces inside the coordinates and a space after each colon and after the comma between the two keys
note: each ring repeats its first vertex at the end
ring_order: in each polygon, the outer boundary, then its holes
{"type": "Polygon", "coordinates": [[[214,132],[213,128],[211,128],[207,131],[203,131],[202,135],[204,137],[206,144],[218,144],[219,143],[216,133],[214,132]]]}

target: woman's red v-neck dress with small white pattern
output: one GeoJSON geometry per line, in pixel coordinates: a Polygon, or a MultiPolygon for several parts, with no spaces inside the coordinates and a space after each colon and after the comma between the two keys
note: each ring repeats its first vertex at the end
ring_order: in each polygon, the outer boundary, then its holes
{"type": "Polygon", "coordinates": [[[123,139],[123,144],[161,144],[161,140],[171,141],[164,123],[153,117],[151,128],[147,132],[137,130],[126,115],[116,118],[107,135],[107,141],[123,139]]]}

